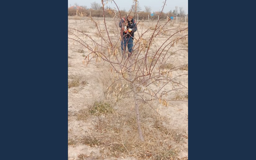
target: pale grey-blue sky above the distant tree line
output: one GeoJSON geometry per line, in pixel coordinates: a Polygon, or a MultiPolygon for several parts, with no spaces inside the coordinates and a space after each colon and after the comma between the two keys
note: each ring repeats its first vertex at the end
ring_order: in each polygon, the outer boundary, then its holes
{"type": "MultiPolygon", "coordinates": [[[[68,0],[68,7],[74,6],[75,3],[77,3],[79,6],[87,6],[91,7],[92,2],[97,2],[101,4],[101,0],[68,0]]],[[[116,4],[118,5],[120,10],[126,10],[128,11],[131,6],[133,0],[115,0],[116,4]]],[[[144,6],[150,6],[151,7],[151,12],[153,11],[161,11],[163,2],[164,0],[138,0],[139,6],[141,7],[141,11],[145,10],[144,6]]],[[[116,7],[115,3],[108,2],[106,4],[107,6],[110,7],[116,7]]],[[[178,11],[179,7],[182,7],[182,9],[186,12],[185,14],[188,14],[188,0],[166,0],[166,6],[164,7],[163,12],[168,12],[170,10],[174,10],[175,6],[178,6],[178,11]]]]}

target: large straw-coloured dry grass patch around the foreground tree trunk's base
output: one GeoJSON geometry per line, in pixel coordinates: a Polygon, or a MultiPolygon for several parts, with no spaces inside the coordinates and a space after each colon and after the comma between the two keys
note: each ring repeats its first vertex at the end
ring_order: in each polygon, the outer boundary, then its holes
{"type": "Polygon", "coordinates": [[[172,129],[168,125],[167,118],[160,116],[144,104],[140,106],[140,112],[145,142],[141,142],[131,101],[122,101],[117,105],[120,105],[122,109],[116,110],[115,114],[108,114],[104,118],[94,120],[93,136],[84,137],[84,144],[104,147],[102,154],[105,157],[172,159],[177,156],[176,146],[183,142],[182,130],[172,129]]]}

